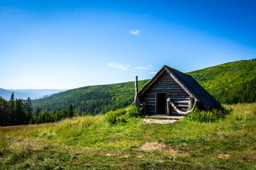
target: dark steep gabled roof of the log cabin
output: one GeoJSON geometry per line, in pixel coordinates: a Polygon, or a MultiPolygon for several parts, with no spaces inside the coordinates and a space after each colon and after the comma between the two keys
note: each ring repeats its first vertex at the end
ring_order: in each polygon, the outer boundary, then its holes
{"type": "Polygon", "coordinates": [[[164,65],[159,72],[157,72],[152,79],[139,91],[139,95],[143,94],[146,89],[153,84],[155,79],[157,79],[166,70],[170,76],[177,81],[177,83],[193,98],[196,98],[201,102],[206,108],[219,108],[221,105],[218,101],[211,96],[206,89],[204,89],[198,82],[191,77],[191,75],[180,72],[176,69],[164,65]]]}

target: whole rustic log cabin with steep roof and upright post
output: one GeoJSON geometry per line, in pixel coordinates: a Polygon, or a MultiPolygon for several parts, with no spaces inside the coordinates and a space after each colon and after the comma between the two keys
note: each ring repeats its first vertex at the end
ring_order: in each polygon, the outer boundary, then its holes
{"type": "Polygon", "coordinates": [[[221,106],[191,75],[166,65],[139,92],[136,77],[134,104],[144,107],[146,115],[186,115],[196,106],[221,106]]]}

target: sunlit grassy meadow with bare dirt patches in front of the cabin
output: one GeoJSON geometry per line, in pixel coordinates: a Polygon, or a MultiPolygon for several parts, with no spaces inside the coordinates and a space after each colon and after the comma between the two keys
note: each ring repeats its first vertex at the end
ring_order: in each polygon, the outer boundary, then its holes
{"type": "Polygon", "coordinates": [[[103,115],[0,128],[0,169],[256,169],[256,103],[214,123],[103,115]]]}

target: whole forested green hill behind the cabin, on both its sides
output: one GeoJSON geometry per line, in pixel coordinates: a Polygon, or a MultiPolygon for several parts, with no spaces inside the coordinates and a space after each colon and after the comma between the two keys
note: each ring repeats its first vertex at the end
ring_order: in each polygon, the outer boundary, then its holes
{"type": "MultiPolygon", "coordinates": [[[[229,62],[191,74],[221,103],[251,103],[256,98],[256,60],[229,62]]],[[[149,80],[139,81],[139,89],[149,80]]],[[[33,101],[33,108],[50,111],[67,109],[69,104],[85,114],[105,113],[132,103],[134,82],[85,86],[33,101]]]]}

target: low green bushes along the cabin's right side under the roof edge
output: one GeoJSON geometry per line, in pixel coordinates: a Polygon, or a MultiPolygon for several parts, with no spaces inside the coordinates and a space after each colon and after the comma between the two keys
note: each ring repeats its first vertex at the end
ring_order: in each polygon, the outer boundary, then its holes
{"type": "Polygon", "coordinates": [[[228,111],[225,108],[219,108],[219,109],[211,109],[209,111],[201,111],[196,108],[193,112],[188,113],[186,115],[186,120],[194,120],[198,122],[214,122],[215,120],[220,120],[225,118],[225,115],[228,115],[230,111],[228,111]]]}

